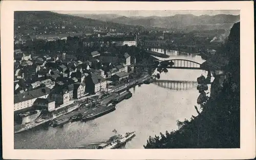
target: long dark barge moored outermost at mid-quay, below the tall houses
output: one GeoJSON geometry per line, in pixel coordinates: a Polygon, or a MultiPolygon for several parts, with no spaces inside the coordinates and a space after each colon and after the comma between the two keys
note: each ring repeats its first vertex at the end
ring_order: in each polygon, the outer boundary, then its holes
{"type": "Polygon", "coordinates": [[[96,106],[83,113],[82,121],[86,122],[89,120],[96,119],[98,117],[101,117],[103,115],[106,115],[107,113],[114,111],[115,109],[116,109],[115,104],[96,106]]]}

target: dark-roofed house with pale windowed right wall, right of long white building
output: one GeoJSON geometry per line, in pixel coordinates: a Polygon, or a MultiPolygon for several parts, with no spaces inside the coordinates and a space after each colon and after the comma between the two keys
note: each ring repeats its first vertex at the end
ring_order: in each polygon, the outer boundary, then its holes
{"type": "Polygon", "coordinates": [[[70,95],[68,89],[61,88],[59,86],[56,86],[50,95],[51,99],[53,99],[56,104],[67,104],[70,102],[70,95]]]}

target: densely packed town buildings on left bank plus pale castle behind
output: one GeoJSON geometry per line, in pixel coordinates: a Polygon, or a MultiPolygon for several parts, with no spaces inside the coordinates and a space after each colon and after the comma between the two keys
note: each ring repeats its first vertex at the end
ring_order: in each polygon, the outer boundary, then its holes
{"type": "MultiPolygon", "coordinates": [[[[119,38],[115,42],[117,45],[137,45],[127,40],[119,38]]],[[[98,50],[89,54],[91,58],[81,59],[65,52],[32,56],[30,52],[15,50],[15,113],[38,108],[56,111],[88,93],[106,92],[106,78],[119,81],[129,77],[131,56],[128,53],[117,55],[98,50]]]]}

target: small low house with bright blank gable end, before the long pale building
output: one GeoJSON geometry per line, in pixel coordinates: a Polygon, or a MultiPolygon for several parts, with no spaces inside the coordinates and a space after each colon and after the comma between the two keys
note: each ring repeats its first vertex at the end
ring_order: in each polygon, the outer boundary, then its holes
{"type": "Polygon", "coordinates": [[[47,108],[48,111],[55,109],[55,101],[47,98],[37,98],[33,105],[35,107],[47,108]]]}

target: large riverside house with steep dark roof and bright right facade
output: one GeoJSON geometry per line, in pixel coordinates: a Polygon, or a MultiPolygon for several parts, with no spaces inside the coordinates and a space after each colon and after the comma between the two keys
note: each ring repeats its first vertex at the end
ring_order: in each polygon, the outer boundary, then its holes
{"type": "Polygon", "coordinates": [[[91,73],[86,77],[86,92],[97,93],[106,90],[106,80],[98,74],[91,73]]]}

